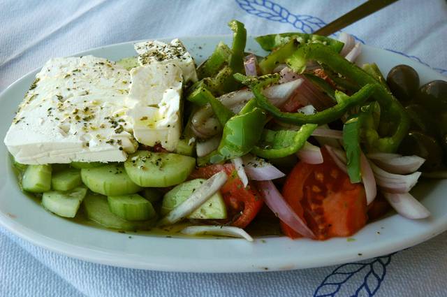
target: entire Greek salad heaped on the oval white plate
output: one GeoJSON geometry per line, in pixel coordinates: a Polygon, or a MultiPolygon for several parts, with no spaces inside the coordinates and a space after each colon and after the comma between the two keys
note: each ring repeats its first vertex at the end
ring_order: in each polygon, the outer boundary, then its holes
{"type": "Polygon", "coordinates": [[[258,36],[260,57],[229,27],[233,43],[199,66],[179,39],[47,61],[4,139],[21,189],[118,231],[247,240],[265,220],[325,240],[391,208],[430,216],[410,191],[446,176],[446,81],[357,65],[349,34],[258,36]]]}

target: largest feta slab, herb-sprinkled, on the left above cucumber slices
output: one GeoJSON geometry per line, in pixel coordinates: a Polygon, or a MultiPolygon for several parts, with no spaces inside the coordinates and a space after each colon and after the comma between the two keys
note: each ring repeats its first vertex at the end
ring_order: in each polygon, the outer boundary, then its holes
{"type": "Polygon", "coordinates": [[[138,146],[125,101],[131,76],[107,59],[47,61],[4,143],[22,164],[125,161],[138,146]]]}

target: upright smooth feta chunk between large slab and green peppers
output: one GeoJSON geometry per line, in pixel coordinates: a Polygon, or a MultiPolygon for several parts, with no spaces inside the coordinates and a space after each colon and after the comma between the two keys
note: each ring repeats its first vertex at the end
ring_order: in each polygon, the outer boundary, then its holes
{"type": "Polygon", "coordinates": [[[138,142],[173,151],[182,131],[182,69],[152,63],[131,70],[127,115],[138,142]]]}

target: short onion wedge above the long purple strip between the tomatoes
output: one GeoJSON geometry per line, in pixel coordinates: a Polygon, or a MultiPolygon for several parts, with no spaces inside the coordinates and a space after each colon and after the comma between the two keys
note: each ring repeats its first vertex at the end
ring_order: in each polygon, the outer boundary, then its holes
{"type": "Polygon", "coordinates": [[[246,154],[242,157],[242,161],[244,161],[245,173],[250,180],[276,180],[286,176],[272,164],[252,154],[246,154]]]}

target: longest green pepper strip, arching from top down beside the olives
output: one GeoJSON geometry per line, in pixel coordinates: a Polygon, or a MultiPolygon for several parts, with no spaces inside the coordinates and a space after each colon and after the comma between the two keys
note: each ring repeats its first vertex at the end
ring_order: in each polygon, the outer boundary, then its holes
{"type": "MultiPolygon", "coordinates": [[[[305,71],[306,63],[309,60],[325,64],[332,71],[356,82],[359,86],[378,85],[376,78],[372,75],[321,44],[311,43],[299,46],[298,50],[286,60],[286,63],[293,71],[301,73],[305,71]]],[[[394,124],[392,127],[388,125],[387,134],[374,140],[374,143],[369,143],[368,146],[374,147],[374,150],[379,152],[395,152],[409,129],[409,117],[400,102],[382,85],[375,87],[373,99],[381,105],[381,122],[398,124],[394,124]]]]}

